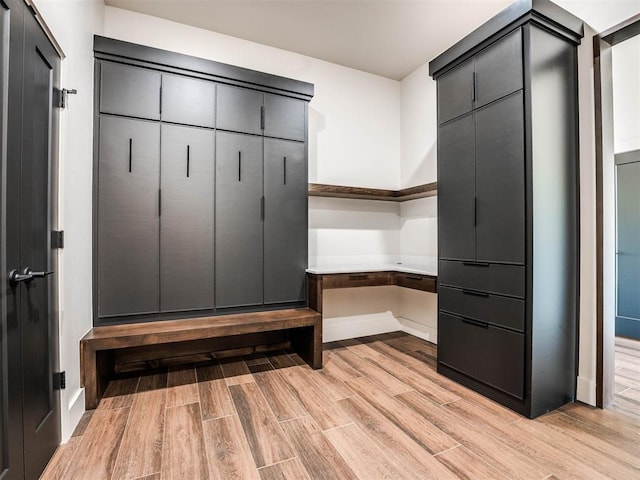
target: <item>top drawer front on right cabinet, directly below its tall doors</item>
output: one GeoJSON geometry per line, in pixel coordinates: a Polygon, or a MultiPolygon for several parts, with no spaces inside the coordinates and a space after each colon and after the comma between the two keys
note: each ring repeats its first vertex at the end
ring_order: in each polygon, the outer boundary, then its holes
{"type": "Polygon", "coordinates": [[[525,267],[440,260],[440,285],[524,298],[525,267]]]}

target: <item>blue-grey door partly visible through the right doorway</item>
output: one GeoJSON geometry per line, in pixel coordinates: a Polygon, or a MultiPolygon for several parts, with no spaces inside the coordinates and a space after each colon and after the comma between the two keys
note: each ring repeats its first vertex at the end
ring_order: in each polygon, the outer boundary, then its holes
{"type": "Polygon", "coordinates": [[[640,151],[616,164],[616,335],[640,339],[640,151]]]}

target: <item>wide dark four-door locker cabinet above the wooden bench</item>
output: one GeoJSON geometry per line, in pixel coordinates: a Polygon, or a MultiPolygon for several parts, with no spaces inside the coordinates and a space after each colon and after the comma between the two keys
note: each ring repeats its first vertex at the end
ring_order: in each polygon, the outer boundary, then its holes
{"type": "Polygon", "coordinates": [[[313,85],[94,50],[94,323],[306,305],[313,85]]]}

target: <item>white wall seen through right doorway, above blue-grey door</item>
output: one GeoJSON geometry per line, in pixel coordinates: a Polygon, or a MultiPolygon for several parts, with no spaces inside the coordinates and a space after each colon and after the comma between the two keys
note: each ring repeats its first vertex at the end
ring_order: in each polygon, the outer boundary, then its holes
{"type": "Polygon", "coordinates": [[[640,35],[615,45],[613,143],[615,153],[640,149],[640,35]]]}

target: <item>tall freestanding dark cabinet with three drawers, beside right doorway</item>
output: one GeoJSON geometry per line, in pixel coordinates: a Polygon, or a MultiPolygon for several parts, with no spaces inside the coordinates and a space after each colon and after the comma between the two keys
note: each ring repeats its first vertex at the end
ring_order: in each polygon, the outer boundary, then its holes
{"type": "Polygon", "coordinates": [[[520,0],[429,64],[438,371],[528,417],[575,397],[582,32],[520,0]]]}

